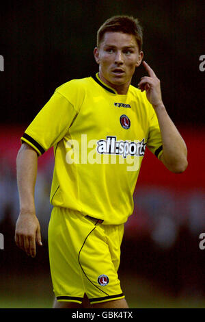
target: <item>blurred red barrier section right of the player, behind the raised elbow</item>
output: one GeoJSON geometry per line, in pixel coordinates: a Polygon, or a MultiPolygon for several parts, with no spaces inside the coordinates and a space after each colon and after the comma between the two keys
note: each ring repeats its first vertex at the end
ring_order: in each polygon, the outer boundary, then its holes
{"type": "Polygon", "coordinates": [[[205,187],[205,131],[203,128],[186,127],[180,129],[180,134],[188,149],[189,165],[186,171],[180,174],[171,173],[147,149],[137,184],[159,184],[173,188],[205,187]]]}

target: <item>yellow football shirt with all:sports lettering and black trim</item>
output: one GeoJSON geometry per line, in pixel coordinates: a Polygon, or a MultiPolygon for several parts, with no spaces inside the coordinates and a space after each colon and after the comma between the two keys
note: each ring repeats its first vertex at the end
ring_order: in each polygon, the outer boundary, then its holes
{"type": "Polygon", "coordinates": [[[118,95],[98,74],[59,86],[25,130],[38,155],[54,148],[50,201],[121,224],[133,213],[133,192],[146,146],[162,153],[159,123],[146,93],[118,95]]]}

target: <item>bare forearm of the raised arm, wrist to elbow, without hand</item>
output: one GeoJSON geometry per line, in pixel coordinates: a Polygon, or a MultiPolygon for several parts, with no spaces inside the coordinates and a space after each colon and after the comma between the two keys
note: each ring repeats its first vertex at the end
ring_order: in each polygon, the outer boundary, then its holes
{"type": "Polygon", "coordinates": [[[154,106],[161,129],[163,154],[161,161],[167,169],[181,173],[187,168],[187,147],[163,104],[154,106]]]}

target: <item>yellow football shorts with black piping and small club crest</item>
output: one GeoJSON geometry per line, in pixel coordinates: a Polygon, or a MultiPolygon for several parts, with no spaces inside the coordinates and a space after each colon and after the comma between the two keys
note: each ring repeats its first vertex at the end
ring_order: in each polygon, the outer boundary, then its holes
{"type": "Polygon", "coordinates": [[[123,299],[118,279],[122,225],[54,207],[49,222],[49,260],[57,301],[90,304],[123,299]]]}

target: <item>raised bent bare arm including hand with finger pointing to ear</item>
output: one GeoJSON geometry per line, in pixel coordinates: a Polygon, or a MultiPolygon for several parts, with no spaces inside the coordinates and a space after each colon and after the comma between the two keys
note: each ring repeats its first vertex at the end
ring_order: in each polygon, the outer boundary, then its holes
{"type": "Polygon", "coordinates": [[[160,80],[146,62],[143,62],[143,66],[149,76],[141,77],[138,88],[141,91],[146,90],[146,97],[156,112],[163,143],[160,160],[169,171],[182,173],[188,165],[186,144],[167,114],[161,97],[160,80]]]}

